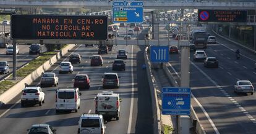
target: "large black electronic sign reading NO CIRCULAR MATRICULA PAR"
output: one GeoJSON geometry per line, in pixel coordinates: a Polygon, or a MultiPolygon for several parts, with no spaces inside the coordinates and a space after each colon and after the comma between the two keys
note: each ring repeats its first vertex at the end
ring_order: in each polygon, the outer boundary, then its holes
{"type": "Polygon", "coordinates": [[[12,15],[12,39],[108,39],[108,17],[90,15],[12,15]]]}

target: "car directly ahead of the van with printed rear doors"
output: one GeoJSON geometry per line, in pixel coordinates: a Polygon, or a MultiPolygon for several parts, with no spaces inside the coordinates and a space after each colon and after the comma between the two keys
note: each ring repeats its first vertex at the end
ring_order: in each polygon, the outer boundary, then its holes
{"type": "Polygon", "coordinates": [[[105,73],[103,76],[102,87],[114,87],[119,88],[119,78],[117,73],[105,73]]]}

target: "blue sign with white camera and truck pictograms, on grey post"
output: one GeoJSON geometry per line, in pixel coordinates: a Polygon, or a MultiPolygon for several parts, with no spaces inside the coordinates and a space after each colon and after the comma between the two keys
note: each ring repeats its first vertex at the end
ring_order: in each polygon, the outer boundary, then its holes
{"type": "Polygon", "coordinates": [[[162,114],[190,115],[190,89],[164,87],[162,89],[162,114]]]}

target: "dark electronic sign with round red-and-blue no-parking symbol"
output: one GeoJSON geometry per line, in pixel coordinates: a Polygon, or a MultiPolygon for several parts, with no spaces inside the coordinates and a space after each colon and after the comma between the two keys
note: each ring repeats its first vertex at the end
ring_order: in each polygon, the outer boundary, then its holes
{"type": "Polygon", "coordinates": [[[246,23],[247,10],[203,10],[198,9],[198,22],[246,23]]]}

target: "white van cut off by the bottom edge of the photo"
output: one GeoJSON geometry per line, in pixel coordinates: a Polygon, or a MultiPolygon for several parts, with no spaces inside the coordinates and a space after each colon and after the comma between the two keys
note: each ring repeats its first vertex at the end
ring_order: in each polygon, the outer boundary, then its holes
{"type": "Polygon", "coordinates": [[[77,133],[80,134],[105,134],[105,124],[102,115],[82,114],[79,119],[79,128],[77,133]]]}

